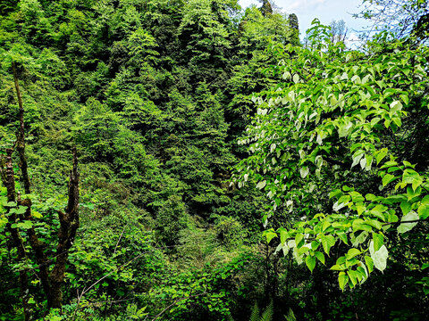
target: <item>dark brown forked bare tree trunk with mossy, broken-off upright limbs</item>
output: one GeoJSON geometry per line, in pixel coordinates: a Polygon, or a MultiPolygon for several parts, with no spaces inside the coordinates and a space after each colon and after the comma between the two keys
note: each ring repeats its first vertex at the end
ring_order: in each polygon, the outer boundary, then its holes
{"type": "MultiPolygon", "coordinates": [[[[16,134],[16,150],[20,158],[20,169],[22,175],[22,181],[24,186],[24,192],[26,194],[31,193],[31,185],[29,181],[29,171],[28,163],[25,157],[25,127],[24,127],[24,107],[22,104],[21,90],[18,82],[18,75],[14,62],[12,63],[13,69],[13,78],[15,83],[16,95],[18,97],[19,105],[19,119],[20,119],[20,128],[16,134]]],[[[29,221],[33,221],[33,216],[31,215],[31,200],[25,198],[21,200],[21,196],[18,194],[16,197],[15,192],[15,178],[13,176],[13,161],[12,161],[13,149],[7,150],[6,157],[6,169],[5,173],[3,169],[1,170],[2,179],[4,180],[4,185],[7,188],[7,197],[8,202],[17,202],[18,206],[25,206],[26,210],[24,213],[24,218],[29,221]]],[[[79,173],[78,173],[78,158],[76,148],[72,150],[73,154],[73,168],[70,174],[69,181],[69,191],[68,191],[68,204],[65,210],[65,214],[61,211],[58,212],[58,217],[60,219],[60,230],[58,231],[58,245],[56,248],[56,261],[55,267],[52,272],[49,274],[49,260],[45,252],[45,244],[38,240],[38,235],[34,227],[31,227],[27,230],[27,235],[29,237],[29,244],[33,254],[35,255],[36,261],[38,263],[39,273],[38,277],[40,278],[41,284],[43,286],[43,291],[46,295],[47,308],[61,308],[63,304],[63,292],[62,286],[64,283],[65,268],[68,261],[68,251],[71,248],[74,238],[76,236],[76,231],[79,227],[79,173]]],[[[8,210],[9,211],[9,210],[8,210]]],[[[13,228],[12,224],[16,221],[16,215],[13,213],[9,215],[9,222],[7,223],[7,228],[12,235],[13,246],[18,251],[18,259],[24,259],[27,257],[24,244],[22,243],[21,235],[17,228],[13,228]]],[[[21,298],[22,306],[24,308],[25,320],[29,321],[31,318],[30,309],[29,309],[29,286],[28,286],[28,276],[27,272],[20,272],[20,284],[21,284],[21,298]]]]}

